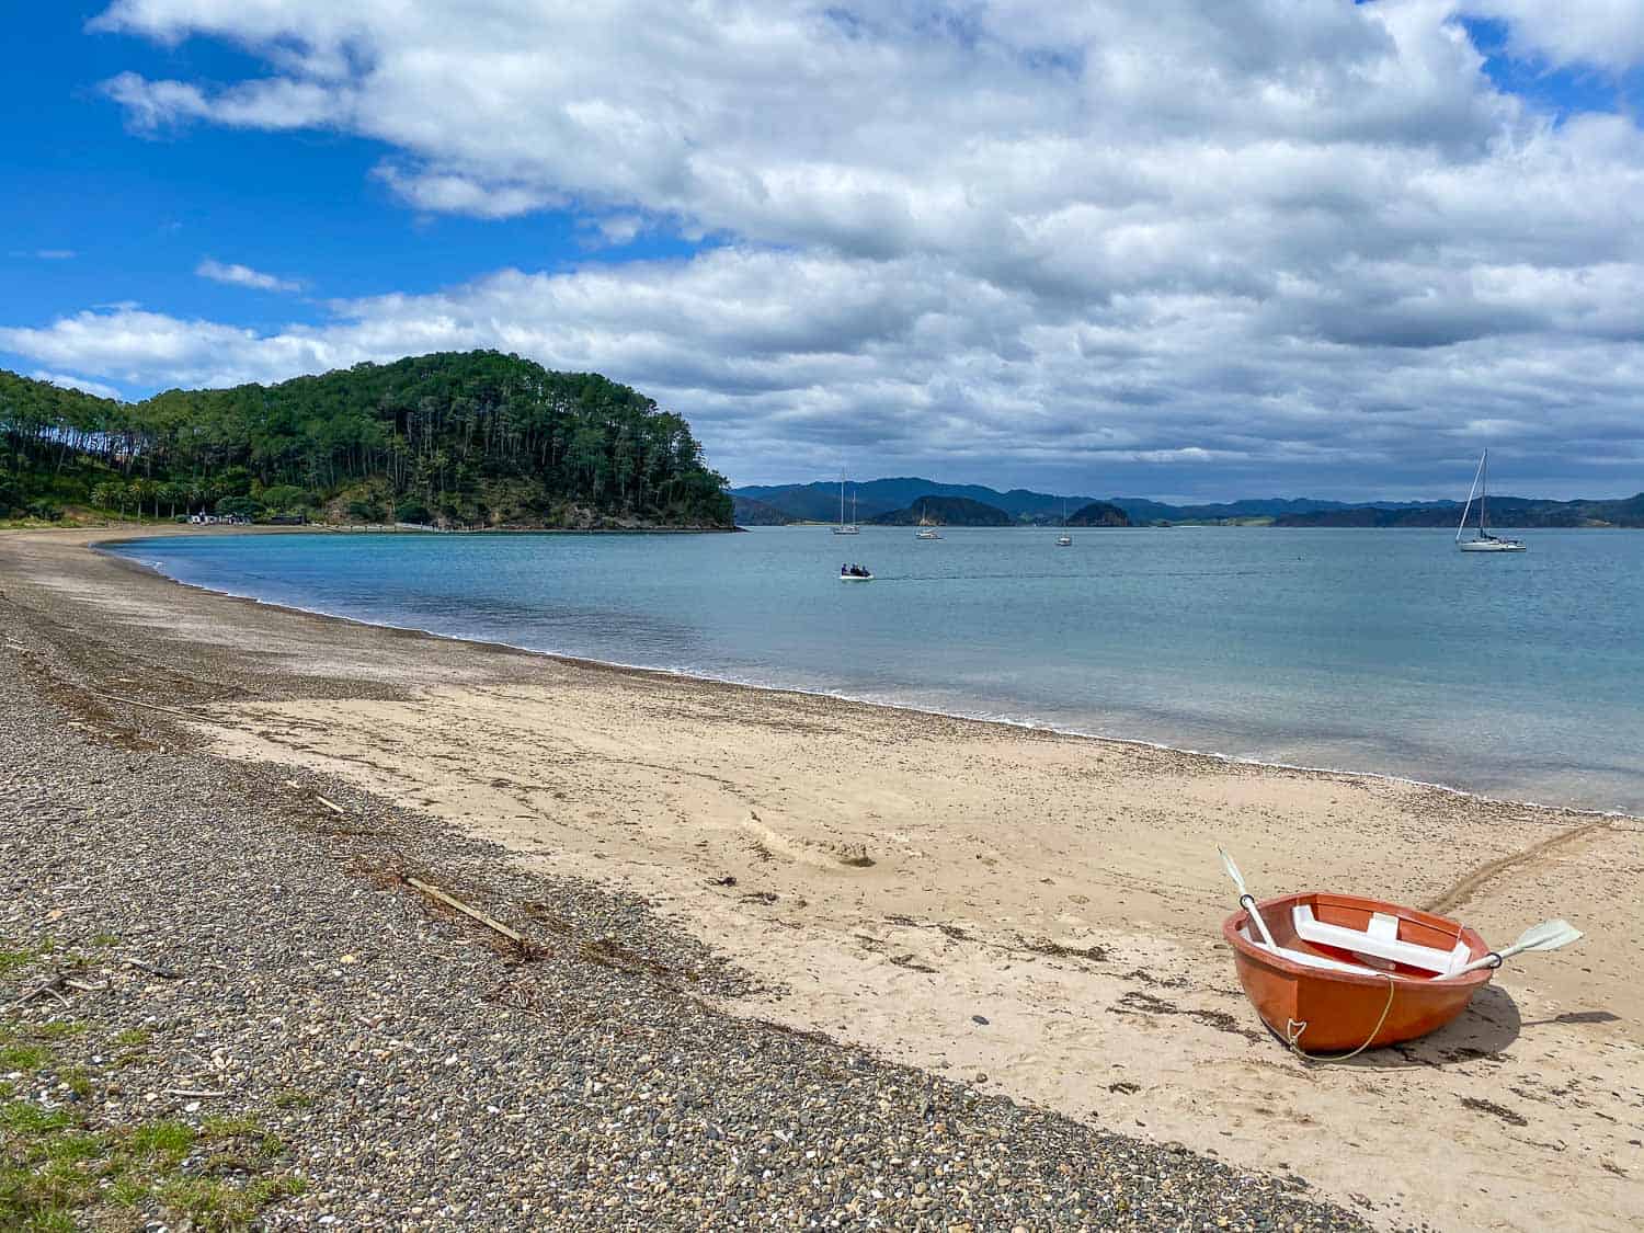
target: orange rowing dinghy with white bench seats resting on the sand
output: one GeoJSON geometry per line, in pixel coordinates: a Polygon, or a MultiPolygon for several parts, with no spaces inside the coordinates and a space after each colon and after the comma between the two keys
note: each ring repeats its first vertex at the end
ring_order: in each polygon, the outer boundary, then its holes
{"type": "Polygon", "coordinates": [[[1241,903],[1221,926],[1240,983],[1263,1023],[1309,1054],[1379,1049],[1443,1028],[1501,963],[1476,931],[1379,899],[1307,891],[1241,903]],[[1485,958],[1493,963],[1462,970],[1485,958]]]}

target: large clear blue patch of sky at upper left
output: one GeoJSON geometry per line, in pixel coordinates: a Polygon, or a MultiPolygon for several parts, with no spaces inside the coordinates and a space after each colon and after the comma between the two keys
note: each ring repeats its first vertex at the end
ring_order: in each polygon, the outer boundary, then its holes
{"type": "MultiPolygon", "coordinates": [[[[7,324],[135,301],[261,330],[321,322],[327,299],[432,291],[500,266],[561,270],[695,248],[649,237],[602,253],[574,210],[495,220],[408,209],[372,176],[390,150],[345,133],[133,133],[102,82],[132,71],[233,81],[258,74],[260,62],[220,39],[168,48],[87,31],[104,8],[30,5],[10,18],[31,54],[0,76],[7,324]],[[304,294],[199,278],[206,258],[301,279],[304,294]]],[[[26,367],[15,353],[0,352],[0,362],[26,367]]]]}

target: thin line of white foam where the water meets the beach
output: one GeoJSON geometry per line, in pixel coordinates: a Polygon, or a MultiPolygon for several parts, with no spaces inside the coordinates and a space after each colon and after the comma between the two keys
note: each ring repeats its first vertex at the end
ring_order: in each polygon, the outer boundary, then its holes
{"type": "Polygon", "coordinates": [[[150,566],[146,561],[140,561],[136,557],[128,557],[123,552],[118,552],[115,549],[117,544],[118,544],[118,541],[113,541],[113,544],[110,544],[110,546],[105,547],[102,543],[97,543],[97,544],[89,544],[89,547],[92,551],[104,552],[105,556],[117,556],[122,561],[130,561],[135,566],[143,566],[146,569],[153,569],[155,574],[158,574],[159,577],[163,577],[168,582],[173,582],[173,584],[176,584],[179,587],[189,587],[192,590],[199,590],[199,592],[204,592],[207,595],[224,595],[227,598],[247,600],[250,603],[258,603],[258,605],[263,605],[263,607],[268,607],[268,608],[284,608],[288,612],[301,612],[301,613],[306,613],[309,616],[324,616],[326,620],[345,621],[347,625],[363,625],[367,628],[375,628],[375,630],[408,630],[411,633],[426,635],[429,638],[442,638],[446,641],[454,641],[454,643],[472,643],[475,646],[501,646],[501,648],[506,648],[510,651],[523,651],[526,654],[541,654],[541,656],[546,656],[549,659],[562,659],[562,661],[572,663],[572,664],[593,664],[593,666],[598,666],[598,667],[620,667],[620,669],[626,669],[626,671],[631,671],[631,672],[654,672],[656,676],[677,677],[681,681],[709,681],[709,682],[722,684],[722,686],[738,686],[741,689],[761,689],[761,690],[769,690],[769,692],[776,692],[776,694],[801,694],[804,697],[827,697],[827,699],[834,699],[834,700],[838,700],[838,702],[850,702],[853,705],[861,705],[861,707],[881,707],[884,710],[907,710],[907,712],[914,712],[917,715],[935,715],[935,717],[940,717],[940,718],[968,720],[968,722],[973,722],[973,723],[998,723],[1001,727],[1024,728],[1024,730],[1029,730],[1029,732],[1051,732],[1051,733],[1055,733],[1059,737],[1077,737],[1080,740],[1103,741],[1106,745],[1126,745],[1126,746],[1143,748],[1143,750],[1159,750],[1162,753],[1182,753],[1182,755],[1189,755],[1189,756],[1194,756],[1194,758],[1212,758],[1215,761],[1228,763],[1230,766],[1256,766],[1256,768],[1266,768],[1266,769],[1276,769],[1276,771],[1299,771],[1299,773],[1304,773],[1304,774],[1350,774],[1350,776],[1353,776],[1356,779],[1374,779],[1374,781],[1379,781],[1379,783],[1406,784],[1406,786],[1411,786],[1411,787],[1427,787],[1427,789],[1432,789],[1432,791],[1437,791],[1437,792],[1445,792],[1448,796],[1457,796],[1457,797],[1462,797],[1462,799],[1466,799],[1466,801],[1493,801],[1493,802],[1498,802],[1498,804],[1522,806],[1526,809],[1554,809],[1554,810],[1559,810],[1562,814],[1572,814],[1575,817],[1616,817],[1616,819],[1631,819],[1632,817],[1632,814],[1628,814],[1623,809],[1585,809],[1585,807],[1580,807],[1580,806],[1560,806],[1560,804],[1545,804],[1545,802],[1540,802],[1540,801],[1521,801],[1521,799],[1514,799],[1514,797],[1488,796],[1485,792],[1475,792],[1475,791],[1470,791],[1466,787],[1453,787],[1452,784],[1440,784],[1440,783],[1434,783],[1430,779],[1415,779],[1412,776],[1404,776],[1404,774],[1389,774],[1389,773],[1384,773],[1384,771],[1355,771],[1355,769],[1351,769],[1348,766],[1310,766],[1307,763],[1264,761],[1261,758],[1246,758],[1246,756],[1235,755],[1235,753],[1220,753],[1217,750],[1195,750],[1195,748],[1184,746],[1184,745],[1167,745],[1164,741],[1151,741],[1151,740],[1143,740],[1139,737],[1111,737],[1111,735],[1105,735],[1105,733],[1100,733],[1100,732],[1090,732],[1088,728],[1075,728],[1072,725],[1046,723],[1044,720],[1036,720],[1036,718],[996,715],[996,713],[988,713],[988,712],[981,712],[981,710],[975,710],[975,712],[942,710],[939,707],[927,707],[927,705],[921,705],[917,702],[884,700],[883,695],[881,697],[875,697],[871,694],[850,694],[850,692],[845,692],[842,689],[806,687],[806,686],[781,686],[781,684],[771,684],[771,682],[758,681],[758,679],[737,677],[737,676],[732,676],[732,674],[727,674],[727,672],[709,672],[709,671],[700,671],[700,669],[682,669],[682,667],[659,667],[659,666],[654,666],[654,664],[626,663],[626,661],[621,661],[621,659],[595,659],[593,656],[570,654],[567,651],[556,651],[556,649],[541,648],[541,646],[526,646],[526,644],[521,644],[521,643],[508,643],[508,641],[501,641],[501,640],[496,640],[496,638],[472,638],[472,636],[457,635],[457,633],[441,633],[439,630],[427,630],[427,628],[419,626],[419,625],[393,625],[390,621],[367,621],[367,620],[360,620],[358,616],[345,616],[345,615],[340,615],[340,613],[335,613],[335,612],[326,612],[324,608],[306,608],[306,607],[298,605],[298,603],[284,603],[284,602],[279,602],[279,600],[263,600],[263,598],[260,598],[256,595],[245,595],[245,593],[233,592],[233,590],[222,590],[222,589],[217,589],[217,587],[206,587],[206,585],[197,584],[197,582],[184,582],[182,579],[168,574],[159,566],[150,566]]]}

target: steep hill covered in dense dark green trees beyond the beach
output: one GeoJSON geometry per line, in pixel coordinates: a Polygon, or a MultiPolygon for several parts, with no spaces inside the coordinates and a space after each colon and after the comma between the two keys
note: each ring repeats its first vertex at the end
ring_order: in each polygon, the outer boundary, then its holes
{"type": "Polygon", "coordinates": [[[597,373],[444,352],[117,403],[0,370],[0,516],[730,526],[690,426],[597,373]]]}

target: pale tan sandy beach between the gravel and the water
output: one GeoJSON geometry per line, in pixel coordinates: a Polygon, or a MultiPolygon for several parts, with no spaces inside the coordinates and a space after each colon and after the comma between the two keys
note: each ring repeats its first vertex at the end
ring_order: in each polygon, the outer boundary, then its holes
{"type": "Polygon", "coordinates": [[[87,549],[107,536],[0,534],[0,587],[122,630],[110,689],[184,710],[219,756],[643,896],[753,973],[725,1011],[1294,1174],[1386,1228],[1644,1223],[1636,819],[360,626],[87,549]],[[178,667],[207,653],[237,689],[178,667]],[[1420,1042],[1310,1065],[1238,990],[1218,845],[1258,896],[1373,894],[1496,944],[1565,916],[1586,937],[1509,962],[1420,1042]]]}

